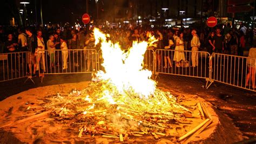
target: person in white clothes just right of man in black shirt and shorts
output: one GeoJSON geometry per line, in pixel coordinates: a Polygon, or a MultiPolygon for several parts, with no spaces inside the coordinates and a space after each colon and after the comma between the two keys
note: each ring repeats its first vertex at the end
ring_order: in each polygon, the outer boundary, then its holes
{"type": "Polygon", "coordinates": [[[42,63],[41,66],[43,67],[43,70],[45,72],[45,46],[44,46],[44,39],[42,37],[42,31],[38,30],[37,31],[37,70],[39,70],[39,63],[41,61],[41,57],[42,57],[42,63]]]}

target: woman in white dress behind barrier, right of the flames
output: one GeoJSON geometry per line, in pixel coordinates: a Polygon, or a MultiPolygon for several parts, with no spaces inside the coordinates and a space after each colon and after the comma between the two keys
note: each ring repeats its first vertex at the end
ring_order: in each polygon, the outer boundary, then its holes
{"type": "Polygon", "coordinates": [[[176,38],[176,46],[175,52],[173,56],[173,61],[176,61],[176,67],[180,67],[180,61],[185,61],[184,54],[184,40],[183,40],[183,32],[178,33],[178,38],[176,38]]]}

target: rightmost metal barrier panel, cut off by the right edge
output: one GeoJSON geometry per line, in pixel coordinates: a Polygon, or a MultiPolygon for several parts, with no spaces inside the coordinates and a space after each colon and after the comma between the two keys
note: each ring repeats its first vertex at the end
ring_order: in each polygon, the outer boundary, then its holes
{"type": "Polygon", "coordinates": [[[212,80],[234,87],[256,91],[256,59],[243,56],[212,54],[212,80]],[[254,86],[255,87],[255,86],[254,86]]]}

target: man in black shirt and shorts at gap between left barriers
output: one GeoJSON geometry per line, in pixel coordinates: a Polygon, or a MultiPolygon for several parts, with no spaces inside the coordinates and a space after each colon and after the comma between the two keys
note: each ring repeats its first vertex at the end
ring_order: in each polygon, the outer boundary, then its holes
{"type": "Polygon", "coordinates": [[[28,55],[27,61],[29,64],[29,74],[31,76],[36,76],[36,49],[37,49],[37,36],[32,34],[30,28],[26,28],[26,41],[28,42],[28,55]],[[33,64],[33,73],[32,73],[32,64],[33,64]]]}

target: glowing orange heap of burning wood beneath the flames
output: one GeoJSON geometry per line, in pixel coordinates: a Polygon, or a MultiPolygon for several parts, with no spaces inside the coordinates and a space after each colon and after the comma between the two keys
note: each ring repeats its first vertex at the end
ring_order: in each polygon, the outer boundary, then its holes
{"type": "Polygon", "coordinates": [[[73,90],[70,94],[46,99],[49,103],[44,105],[45,109],[52,111],[55,119],[70,120],[71,126],[79,127],[81,134],[86,135],[116,138],[119,134],[155,133],[165,136],[166,128],[191,123],[185,118],[192,115],[190,110],[179,105],[169,92],[160,89],[145,100],[131,91],[120,94],[107,82],[93,82],[82,91],[73,90]]]}

